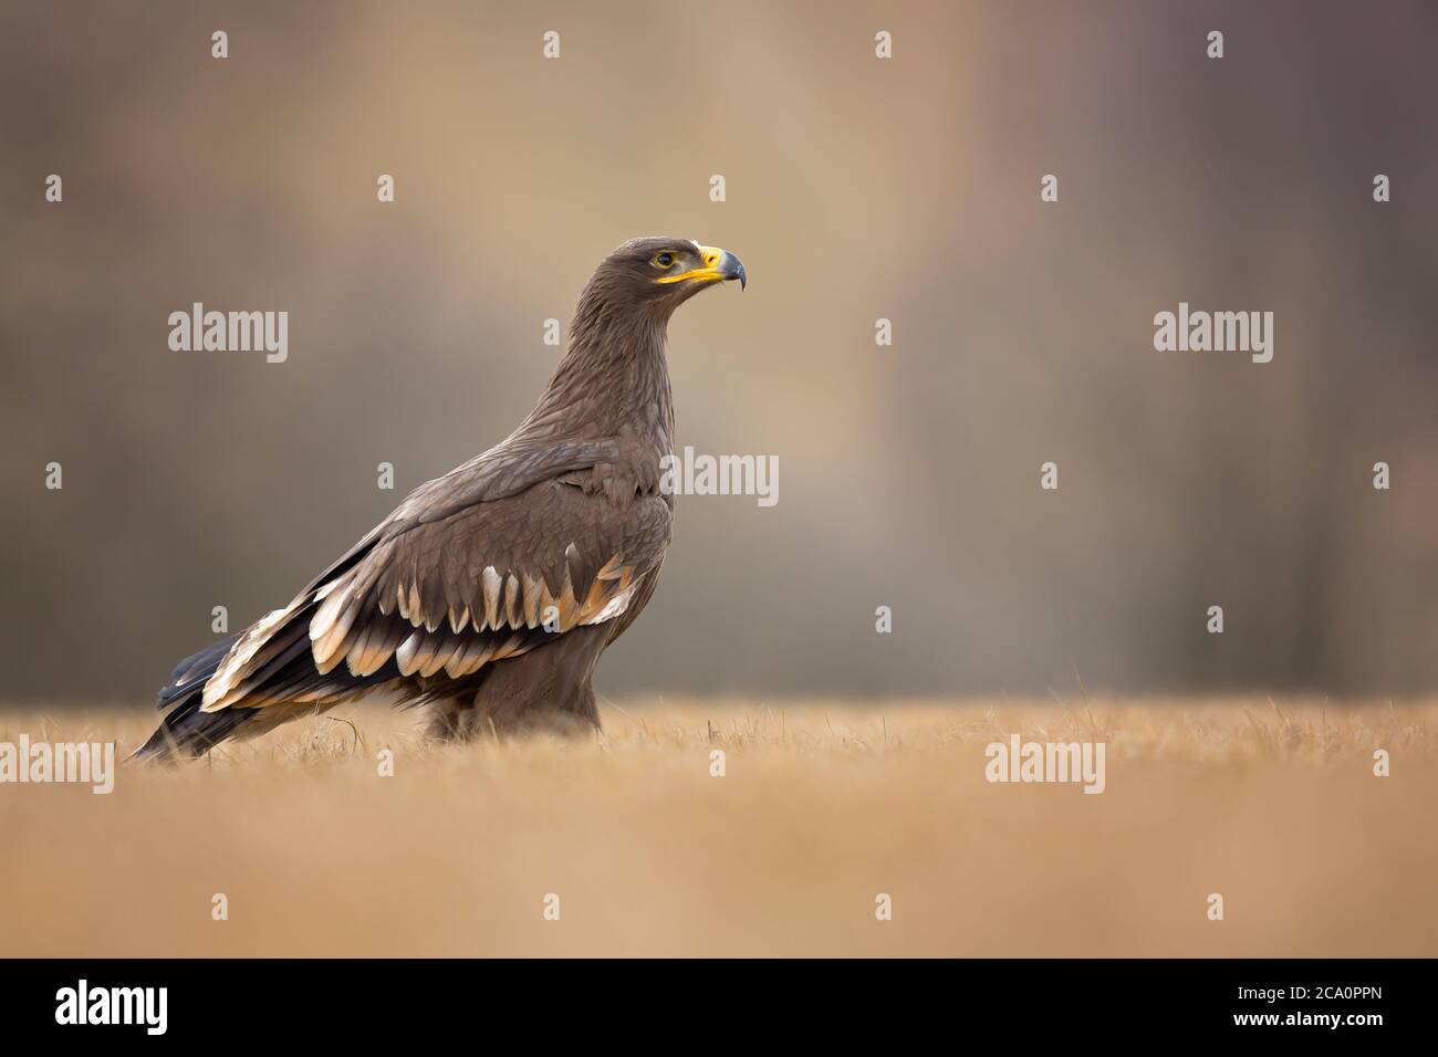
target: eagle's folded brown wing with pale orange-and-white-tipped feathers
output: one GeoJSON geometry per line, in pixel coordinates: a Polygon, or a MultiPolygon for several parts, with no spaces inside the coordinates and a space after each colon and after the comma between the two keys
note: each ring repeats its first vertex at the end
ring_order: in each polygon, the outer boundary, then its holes
{"type": "Polygon", "coordinates": [[[247,628],[204,680],[200,710],[326,706],[400,676],[439,696],[490,662],[620,617],[669,545],[666,499],[615,502],[595,485],[595,466],[615,465],[603,446],[496,454],[416,489],[247,628]]]}

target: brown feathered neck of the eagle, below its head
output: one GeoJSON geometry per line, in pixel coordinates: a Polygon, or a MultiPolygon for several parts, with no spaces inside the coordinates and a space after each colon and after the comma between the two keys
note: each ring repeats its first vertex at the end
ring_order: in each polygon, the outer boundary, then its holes
{"type": "Polygon", "coordinates": [[[529,417],[555,440],[633,437],[660,454],[672,447],[674,407],[664,358],[669,318],[644,305],[580,299],[569,351],[529,417]]]}

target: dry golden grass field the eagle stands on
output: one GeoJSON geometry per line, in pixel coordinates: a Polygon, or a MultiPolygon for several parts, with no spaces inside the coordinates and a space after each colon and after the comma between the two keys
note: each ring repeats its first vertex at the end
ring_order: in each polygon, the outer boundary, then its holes
{"type": "Polygon", "coordinates": [[[1435,703],[656,700],[443,748],[341,713],[108,797],[0,787],[0,955],[1438,955],[1435,703]],[[986,782],[1011,732],[1106,739],[1106,791],[986,782]]]}

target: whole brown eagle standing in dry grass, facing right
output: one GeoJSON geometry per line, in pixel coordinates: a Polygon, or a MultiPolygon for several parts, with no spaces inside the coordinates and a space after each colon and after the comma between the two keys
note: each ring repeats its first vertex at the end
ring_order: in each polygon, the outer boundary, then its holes
{"type": "Polygon", "coordinates": [[[728,250],[636,239],[505,440],[414,489],[285,608],[181,660],[141,759],[197,756],[377,689],[444,741],[600,728],[591,677],[649,604],[673,526],[674,309],[748,285],[728,250]]]}

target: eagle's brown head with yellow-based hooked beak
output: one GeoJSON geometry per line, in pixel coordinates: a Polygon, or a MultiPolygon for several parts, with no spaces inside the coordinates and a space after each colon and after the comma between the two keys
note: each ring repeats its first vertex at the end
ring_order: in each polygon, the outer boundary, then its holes
{"type": "Polygon", "coordinates": [[[749,282],[729,250],[693,239],[633,239],[600,263],[590,288],[610,303],[646,305],[667,318],[699,290],[729,279],[738,279],[739,289],[749,282]]]}

